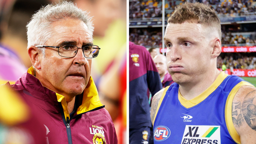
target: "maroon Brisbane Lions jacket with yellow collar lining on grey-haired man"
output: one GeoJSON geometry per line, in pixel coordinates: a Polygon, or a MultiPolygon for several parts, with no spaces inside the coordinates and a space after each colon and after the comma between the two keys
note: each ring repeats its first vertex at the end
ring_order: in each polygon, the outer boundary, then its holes
{"type": "Polygon", "coordinates": [[[92,78],[83,93],[75,97],[77,111],[70,118],[65,97],[43,86],[33,73],[30,67],[11,88],[21,94],[32,112],[40,114],[49,144],[95,143],[95,140],[104,144],[104,139],[107,144],[117,143],[114,124],[99,101],[92,78]]]}

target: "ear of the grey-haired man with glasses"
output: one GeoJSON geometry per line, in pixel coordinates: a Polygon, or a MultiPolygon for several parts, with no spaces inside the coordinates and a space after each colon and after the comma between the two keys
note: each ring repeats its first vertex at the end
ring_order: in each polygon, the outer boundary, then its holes
{"type": "Polygon", "coordinates": [[[41,54],[38,53],[37,47],[29,46],[27,49],[30,61],[36,69],[41,69],[41,54]]]}

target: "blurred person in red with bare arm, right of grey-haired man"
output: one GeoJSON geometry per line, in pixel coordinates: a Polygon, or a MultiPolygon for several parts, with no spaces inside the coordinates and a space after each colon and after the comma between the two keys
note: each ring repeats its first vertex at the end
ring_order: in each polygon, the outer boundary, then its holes
{"type": "Polygon", "coordinates": [[[99,96],[114,122],[119,144],[126,143],[126,66],[126,49],[121,48],[99,81],[99,96]]]}

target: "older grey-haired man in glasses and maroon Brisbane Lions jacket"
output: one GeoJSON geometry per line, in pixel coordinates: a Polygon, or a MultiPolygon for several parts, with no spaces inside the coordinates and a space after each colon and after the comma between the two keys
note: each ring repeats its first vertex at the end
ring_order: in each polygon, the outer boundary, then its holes
{"type": "Polygon", "coordinates": [[[91,60],[100,50],[93,44],[93,29],[90,15],[65,1],[42,7],[27,25],[33,67],[6,85],[40,114],[49,144],[117,143],[90,77],[91,60]]]}

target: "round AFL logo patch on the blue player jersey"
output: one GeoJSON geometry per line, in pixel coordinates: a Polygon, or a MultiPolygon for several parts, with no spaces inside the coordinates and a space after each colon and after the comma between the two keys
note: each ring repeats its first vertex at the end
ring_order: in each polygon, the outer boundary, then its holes
{"type": "Polygon", "coordinates": [[[158,126],[154,129],[154,140],[155,141],[164,141],[171,134],[171,131],[166,126],[158,126]]]}

